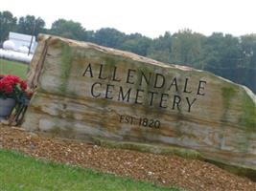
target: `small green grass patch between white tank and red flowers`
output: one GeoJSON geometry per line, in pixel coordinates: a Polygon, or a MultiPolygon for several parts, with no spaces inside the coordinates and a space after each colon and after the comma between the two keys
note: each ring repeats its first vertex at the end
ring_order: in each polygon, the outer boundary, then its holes
{"type": "Polygon", "coordinates": [[[22,79],[26,79],[28,67],[28,64],[0,59],[0,74],[14,74],[22,79]]]}

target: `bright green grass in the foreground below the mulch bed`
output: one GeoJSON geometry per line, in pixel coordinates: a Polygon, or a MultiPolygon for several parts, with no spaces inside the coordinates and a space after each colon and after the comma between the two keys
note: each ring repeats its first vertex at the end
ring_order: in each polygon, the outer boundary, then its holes
{"type": "Polygon", "coordinates": [[[109,174],[0,150],[0,190],[178,191],[109,174]]]}

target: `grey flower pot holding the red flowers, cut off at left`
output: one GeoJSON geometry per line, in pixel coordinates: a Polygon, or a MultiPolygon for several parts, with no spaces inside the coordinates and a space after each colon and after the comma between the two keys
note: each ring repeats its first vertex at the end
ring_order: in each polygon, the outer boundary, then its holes
{"type": "Polygon", "coordinates": [[[0,98],[0,121],[9,117],[12,109],[15,106],[15,99],[13,98],[0,98]]]}

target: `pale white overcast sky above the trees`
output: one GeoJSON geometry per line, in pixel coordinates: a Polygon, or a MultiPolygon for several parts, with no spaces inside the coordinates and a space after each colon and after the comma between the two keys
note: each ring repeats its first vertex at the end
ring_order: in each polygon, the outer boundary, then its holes
{"type": "Polygon", "coordinates": [[[205,35],[256,33],[255,0],[0,0],[0,11],[39,16],[47,28],[64,18],[86,30],[109,27],[151,38],[183,29],[205,35]]]}

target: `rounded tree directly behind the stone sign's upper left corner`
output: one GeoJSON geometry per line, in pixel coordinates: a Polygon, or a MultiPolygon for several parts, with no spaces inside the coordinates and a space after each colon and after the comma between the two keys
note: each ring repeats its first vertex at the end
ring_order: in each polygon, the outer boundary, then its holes
{"type": "Polygon", "coordinates": [[[86,39],[86,32],[81,23],[72,20],[58,19],[52,24],[50,33],[75,40],[86,39]]]}

